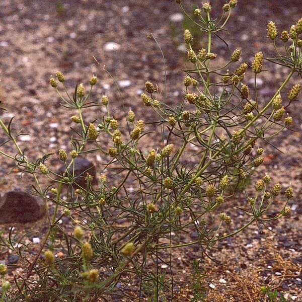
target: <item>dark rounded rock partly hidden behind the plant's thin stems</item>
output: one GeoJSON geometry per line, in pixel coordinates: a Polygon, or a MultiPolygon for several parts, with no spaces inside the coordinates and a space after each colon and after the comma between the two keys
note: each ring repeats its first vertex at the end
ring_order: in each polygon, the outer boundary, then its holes
{"type": "MultiPolygon", "coordinates": [[[[69,165],[70,161],[67,162],[67,166],[69,165]]],[[[75,165],[74,165],[74,174],[77,179],[75,182],[80,185],[81,187],[86,187],[86,176],[87,173],[89,173],[91,176],[93,176],[93,183],[96,182],[96,168],[94,164],[85,159],[85,158],[77,158],[75,159],[75,165]]],[[[61,166],[59,173],[63,174],[65,172],[65,166],[61,166]]],[[[70,173],[73,173],[73,168],[70,167],[69,169],[70,173]]]]}

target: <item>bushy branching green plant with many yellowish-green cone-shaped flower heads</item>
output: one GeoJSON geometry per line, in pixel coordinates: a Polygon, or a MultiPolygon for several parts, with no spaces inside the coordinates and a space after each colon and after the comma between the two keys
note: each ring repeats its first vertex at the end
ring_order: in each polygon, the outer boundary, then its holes
{"type": "MultiPolygon", "coordinates": [[[[202,49],[193,49],[194,37],[189,30],[184,31],[191,65],[185,70],[183,97],[175,101],[174,107],[165,103],[161,83],[145,82],[141,103],[158,116],[157,121],[139,119],[129,110],[125,114],[127,127],[121,127],[106,95],[100,96],[100,101],[91,100],[97,77],[92,77],[89,85],[78,84],[70,94],[63,73],[57,72],[50,85],[62,105],[76,112],[70,117],[73,134],[69,150],[60,149],[52,156],[65,165],[65,172],[60,173],[49,164],[50,154],[30,159],[30,154],[18,145],[12,122],[6,125],[0,119],[6,143],[12,142],[18,152],[16,156],[7,153],[5,143],[0,154],[31,175],[36,193],[54,207],[34,259],[28,259],[23,237],[19,240],[18,236],[12,239],[2,235],[1,246],[18,253],[25,270],[25,275],[17,275],[11,284],[4,281],[2,300],[110,300],[119,283],[122,292],[136,284],[132,287],[136,298],[149,294],[150,300],[158,301],[166,291],[173,301],[173,278],[164,283],[159,272],[163,251],[170,253],[167,274],[172,277],[174,249],[197,244],[206,254],[218,241],[237,235],[252,223],[266,225],[289,213],[287,202],[293,196],[292,188],[281,192],[280,184],[273,183],[269,175],[259,175],[257,168],[264,161],[265,142],[292,124],[286,108],[297,101],[301,84],[287,88],[287,83],[293,75],[298,79],[302,75],[302,19],[289,32],[281,33],[273,22],[268,23],[274,57],[265,58],[259,51],[249,65],[241,60],[242,50],[235,49],[225,64],[217,66],[215,38],[225,29],[237,0],[223,5],[218,19],[212,18],[211,5],[204,3],[194,11],[198,22],[184,10],[182,0],[176,3],[205,32],[207,43],[202,49]],[[283,44],[282,51],[277,44],[283,44]],[[266,61],[286,67],[288,75],[264,103],[259,99],[257,77],[265,72],[266,61]],[[247,74],[252,75],[254,83],[250,87],[247,74]],[[105,116],[85,120],[83,111],[97,106],[106,108],[105,116]],[[154,127],[165,137],[161,142],[155,140],[149,150],[141,143],[145,135],[152,135],[146,127],[154,127]],[[109,147],[105,147],[106,139],[109,147]],[[192,146],[196,154],[192,154],[192,146]],[[107,159],[99,167],[97,184],[89,170],[80,176],[73,172],[78,158],[88,154],[107,159]],[[188,154],[194,156],[194,165],[184,164],[188,154]],[[118,177],[113,178],[116,171],[118,177]],[[236,187],[247,176],[253,176],[254,187],[244,188],[246,204],[242,210],[246,222],[234,229],[236,208],[229,212],[220,208],[236,199],[236,187]],[[47,177],[51,185],[43,188],[42,177],[47,177]],[[77,178],[85,179],[85,185],[79,185],[77,178]],[[270,214],[270,206],[280,194],[284,206],[277,214],[270,214]],[[70,217],[73,233],[58,223],[63,216],[70,217]],[[197,233],[196,240],[181,237],[192,230],[197,233]],[[56,240],[59,233],[63,236],[56,240]],[[58,250],[64,251],[63,255],[58,256],[58,250]],[[143,293],[146,284],[154,286],[143,293]]],[[[7,268],[0,266],[0,273],[5,276],[6,272],[7,268]]],[[[129,291],[124,294],[130,298],[129,291]]]]}

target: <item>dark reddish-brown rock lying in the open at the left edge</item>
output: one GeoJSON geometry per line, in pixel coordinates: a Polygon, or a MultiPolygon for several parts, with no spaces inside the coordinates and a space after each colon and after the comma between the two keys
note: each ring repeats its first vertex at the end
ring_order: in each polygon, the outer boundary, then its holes
{"type": "Polygon", "coordinates": [[[28,222],[40,219],[46,211],[42,198],[20,188],[0,197],[0,223],[28,222]]]}

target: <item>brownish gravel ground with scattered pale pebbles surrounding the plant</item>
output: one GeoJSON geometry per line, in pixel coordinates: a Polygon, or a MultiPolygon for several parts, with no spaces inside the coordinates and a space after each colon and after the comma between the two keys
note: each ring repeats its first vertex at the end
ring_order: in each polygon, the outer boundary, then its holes
{"type": "MultiPolygon", "coordinates": [[[[221,7],[222,0],[214,7],[221,7]]],[[[185,1],[188,9],[193,1],[185,1]]],[[[266,24],[273,20],[280,29],[288,29],[300,18],[300,0],[239,1],[236,17],[229,25],[228,41],[231,50],[243,49],[244,60],[251,61],[256,51],[271,55],[273,47],[266,36],[266,24]]],[[[73,112],[59,106],[59,99],[49,86],[49,77],[61,70],[70,88],[77,82],[88,82],[97,74],[98,89],[93,95],[99,99],[107,94],[114,108],[114,116],[120,120],[129,107],[144,120],[154,116],[141,106],[139,94],[146,80],[161,85],[165,66],[156,43],[147,37],[154,33],[165,54],[167,66],[167,102],[175,104],[181,99],[183,73],[187,65],[183,52],[181,33],[183,17],[172,0],[159,1],[64,1],[59,2],[9,1],[0,2],[0,99],[7,111],[3,119],[12,116],[16,129],[31,136],[19,138],[27,153],[37,158],[45,152],[57,152],[68,143],[70,116],[73,112]],[[100,68],[94,57],[106,66],[121,88],[122,101],[108,74],[100,68]]],[[[227,34],[225,33],[225,37],[227,34]]],[[[202,45],[202,37],[200,44],[202,45]]],[[[222,42],[214,44],[214,50],[222,57],[231,53],[222,42]]],[[[269,64],[267,65],[269,66],[269,64]]],[[[284,79],[284,70],[261,75],[261,101],[265,102],[284,79]]],[[[296,80],[296,79],[295,79],[296,80]]],[[[294,82],[292,82],[294,83],[294,82]]],[[[290,200],[292,213],[271,225],[272,231],[253,226],[244,234],[226,240],[214,250],[211,257],[217,263],[206,261],[205,286],[209,290],[208,301],[257,301],[259,286],[272,279],[280,293],[289,300],[302,301],[302,248],[301,242],[301,102],[289,107],[294,119],[294,131],[284,131],[273,141],[282,153],[266,147],[265,165],[260,173],[269,173],[280,181],[283,188],[291,184],[295,198],[290,200]],[[218,262],[220,264],[218,264],[218,262]],[[282,281],[280,284],[279,281],[282,281]]],[[[100,109],[98,109],[100,110],[100,109]]],[[[74,112],[75,113],[75,112],[74,112]]],[[[101,117],[101,111],[85,113],[88,119],[101,117]]],[[[0,137],[2,140],[2,137],[0,137]]],[[[146,147],[149,145],[146,143],[146,147]]],[[[69,147],[67,145],[67,147],[69,147]]],[[[153,147],[153,146],[152,146],[153,147]]],[[[12,151],[12,149],[7,149],[12,151]]],[[[91,158],[98,165],[97,158],[91,158]]],[[[53,161],[54,165],[58,163],[53,161]]],[[[20,186],[29,188],[31,180],[21,178],[17,171],[0,157],[0,191],[20,186]]],[[[242,198],[233,204],[242,205],[242,198]]],[[[278,204],[277,204],[278,205],[278,204]]],[[[226,209],[228,209],[226,205],[226,209]]],[[[279,204],[280,206],[280,204],[279,204]]],[[[235,225],[243,221],[236,218],[235,225]]],[[[16,225],[16,230],[45,232],[47,222],[16,225]]],[[[9,226],[4,225],[5,232],[9,226]]],[[[189,235],[194,239],[194,232],[189,235]]],[[[39,234],[34,237],[42,237],[39,234]]],[[[29,238],[32,241],[32,237],[29,238]]],[[[35,250],[37,245],[32,244],[35,250]]],[[[192,260],[200,257],[198,247],[175,253],[175,300],[189,301],[191,290],[192,260]]],[[[1,253],[0,257],[7,257],[1,253]]],[[[13,274],[14,271],[11,272],[13,274]]],[[[117,299],[113,299],[117,300],[117,299]]]]}

